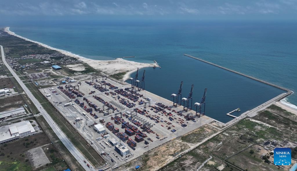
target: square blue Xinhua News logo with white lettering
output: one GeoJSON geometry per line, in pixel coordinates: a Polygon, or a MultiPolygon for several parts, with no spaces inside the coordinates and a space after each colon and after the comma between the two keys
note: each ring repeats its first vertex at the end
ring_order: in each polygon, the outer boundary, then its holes
{"type": "Polygon", "coordinates": [[[275,148],[274,149],[274,164],[275,165],[290,165],[291,164],[291,148],[275,148]]]}

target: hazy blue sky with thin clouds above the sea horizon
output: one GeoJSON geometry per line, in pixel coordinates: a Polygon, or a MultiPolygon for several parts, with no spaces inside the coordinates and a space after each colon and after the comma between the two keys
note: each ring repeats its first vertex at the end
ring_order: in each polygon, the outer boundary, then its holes
{"type": "Polygon", "coordinates": [[[288,20],[297,18],[297,0],[6,0],[0,16],[288,20]]]}

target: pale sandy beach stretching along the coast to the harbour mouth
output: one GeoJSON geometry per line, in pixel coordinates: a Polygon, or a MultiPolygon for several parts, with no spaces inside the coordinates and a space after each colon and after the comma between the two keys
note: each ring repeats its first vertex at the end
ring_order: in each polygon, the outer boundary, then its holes
{"type": "MultiPolygon", "coordinates": [[[[25,39],[27,41],[37,43],[38,45],[44,46],[44,47],[52,49],[52,50],[56,50],[56,51],[61,52],[61,53],[65,54],[65,55],[67,55],[67,56],[78,58],[80,61],[85,62],[86,64],[93,67],[94,69],[100,70],[101,72],[103,72],[106,75],[117,74],[119,72],[127,72],[124,75],[124,77],[122,78],[122,81],[127,80],[130,77],[130,74],[132,72],[135,72],[137,70],[137,68],[153,67],[155,65],[154,63],[147,64],[147,63],[127,61],[127,60],[124,60],[122,58],[116,58],[115,60],[108,60],[108,61],[88,59],[88,58],[84,58],[82,56],[67,52],[65,50],[50,47],[50,46],[45,45],[43,43],[36,42],[36,41],[30,40],[30,39],[27,39],[25,37],[19,36],[19,35],[15,34],[14,32],[10,31],[9,27],[6,27],[5,31],[8,34],[19,37],[21,39],[25,39]]],[[[71,65],[69,67],[74,68],[75,67],[74,65],[71,65]]]]}

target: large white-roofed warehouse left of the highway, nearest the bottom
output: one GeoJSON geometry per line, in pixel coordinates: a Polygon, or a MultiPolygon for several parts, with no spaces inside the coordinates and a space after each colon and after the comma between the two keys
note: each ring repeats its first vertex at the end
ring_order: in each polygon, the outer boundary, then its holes
{"type": "Polygon", "coordinates": [[[21,121],[0,128],[0,144],[34,134],[36,131],[30,121],[21,121]]]}

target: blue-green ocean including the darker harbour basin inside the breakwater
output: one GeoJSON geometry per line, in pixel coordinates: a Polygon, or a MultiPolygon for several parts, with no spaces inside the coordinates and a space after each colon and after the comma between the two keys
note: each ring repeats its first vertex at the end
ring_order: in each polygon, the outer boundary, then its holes
{"type": "MultiPolygon", "coordinates": [[[[222,122],[233,119],[226,113],[240,107],[241,112],[233,113],[240,115],[284,91],[183,54],[297,91],[297,23],[293,22],[69,21],[12,24],[10,30],[85,58],[156,60],[161,69],[144,68],[147,91],[172,100],[170,95],[181,81],[183,97],[194,84],[194,104],[207,88],[205,113],[222,122]]],[[[296,105],[297,95],[285,100],[296,105]]]]}

